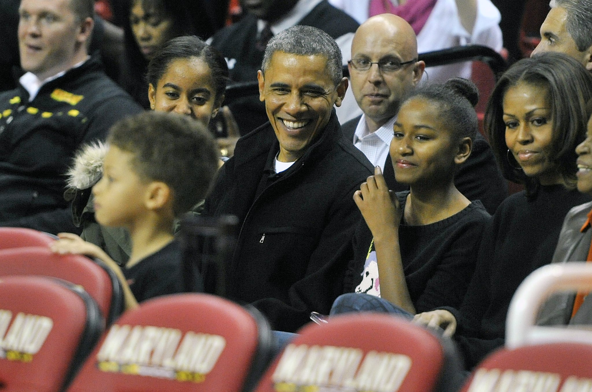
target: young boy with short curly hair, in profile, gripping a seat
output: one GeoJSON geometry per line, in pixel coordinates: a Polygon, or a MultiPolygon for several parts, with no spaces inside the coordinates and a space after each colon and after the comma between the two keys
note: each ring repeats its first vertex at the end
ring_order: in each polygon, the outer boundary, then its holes
{"type": "Polygon", "coordinates": [[[181,249],[173,220],[205,197],[218,168],[210,132],[188,116],[147,111],[110,130],[101,180],[92,188],[95,218],[130,232],[130,259],[120,268],[101,248],[60,233],[56,253],[99,258],[124,288],[126,309],[183,290],[181,249]]]}

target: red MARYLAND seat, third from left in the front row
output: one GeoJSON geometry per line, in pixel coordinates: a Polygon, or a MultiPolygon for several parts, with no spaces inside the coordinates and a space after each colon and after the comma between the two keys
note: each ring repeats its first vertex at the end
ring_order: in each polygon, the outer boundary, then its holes
{"type": "Polygon", "coordinates": [[[327,324],[303,327],[256,392],[455,391],[462,378],[449,372],[440,342],[390,314],[340,314],[327,324]]]}

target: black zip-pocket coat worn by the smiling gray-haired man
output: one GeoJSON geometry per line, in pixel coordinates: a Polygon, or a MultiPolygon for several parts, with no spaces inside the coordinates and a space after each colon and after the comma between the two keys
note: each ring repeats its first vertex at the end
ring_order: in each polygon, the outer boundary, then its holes
{"type": "MultiPolygon", "coordinates": [[[[329,314],[343,293],[346,262],[330,261],[361,219],[353,192],[372,166],[345,139],[334,111],[304,155],[276,175],[266,169],[278,151],[269,123],[242,137],[204,214],[239,217],[236,250],[226,265],[227,296],[253,303],[274,329],[291,332],[310,321],[311,311],[329,314]]],[[[202,275],[207,290],[212,271],[202,275]]]]}

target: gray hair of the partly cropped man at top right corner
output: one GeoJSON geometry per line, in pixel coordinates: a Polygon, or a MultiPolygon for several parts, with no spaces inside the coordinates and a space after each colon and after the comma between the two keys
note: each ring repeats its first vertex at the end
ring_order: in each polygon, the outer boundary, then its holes
{"type": "Polygon", "coordinates": [[[592,0],[551,0],[549,7],[565,9],[565,30],[580,52],[592,46],[592,0]]]}

